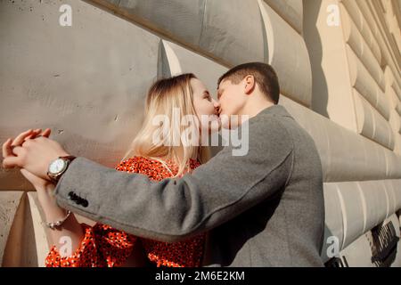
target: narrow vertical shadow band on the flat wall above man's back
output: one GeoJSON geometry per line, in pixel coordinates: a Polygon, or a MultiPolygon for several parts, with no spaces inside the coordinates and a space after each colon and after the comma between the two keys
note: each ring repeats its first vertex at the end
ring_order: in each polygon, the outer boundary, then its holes
{"type": "Polygon", "coordinates": [[[322,0],[303,0],[303,37],[307,44],[312,69],[312,110],[329,118],[327,112],[328,87],[322,69],[323,48],[316,28],[322,0]]]}

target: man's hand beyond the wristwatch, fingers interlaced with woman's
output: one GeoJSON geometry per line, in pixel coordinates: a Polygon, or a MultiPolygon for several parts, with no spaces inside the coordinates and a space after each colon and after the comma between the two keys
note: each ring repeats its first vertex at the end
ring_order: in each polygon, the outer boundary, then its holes
{"type": "MultiPolygon", "coordinates": [[[[50,129],[45,132],[50,134],[50,129]]],[[[47,134],[45,132],[44,134],[47,134]]],[[[24,168],[32,175],[49,180],[47,168],[50,162],[58,157],[68,156],[69,154],[62,149],[58,142],[47,138],[46,135],[32,139],[34,134],[32,130],[29,130],[21,133],[14,142],[11,139],[4,142],[3,167],[24,168]],[[20,144],[20,142],[22,143],[20,144]],[[12,151],[12,154],[10,151],[12,151]]]]}

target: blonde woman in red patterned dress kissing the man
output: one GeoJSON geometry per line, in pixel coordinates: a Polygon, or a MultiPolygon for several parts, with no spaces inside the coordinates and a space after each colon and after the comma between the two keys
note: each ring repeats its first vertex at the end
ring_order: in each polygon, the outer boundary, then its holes
{"type": "MultiPolygon", "coordinates": [[[[157,181],[191,173],[209,159],[200,134],[218,128],[218,111],[218,102],[193,74],[160,79],[149,90],[143,126],[116,169],[157,181]]],[[[47,222],[61,221],[51,230],[54,245],[46,266],[140,266],[145,265],[143,253],[157,266],[201,265],[204,234],[167,243],[138,238],[106,224],[79,224],[72,213],[56,204],[53,184],[24,169],[21,172],[37,189],[47,222]]]]}

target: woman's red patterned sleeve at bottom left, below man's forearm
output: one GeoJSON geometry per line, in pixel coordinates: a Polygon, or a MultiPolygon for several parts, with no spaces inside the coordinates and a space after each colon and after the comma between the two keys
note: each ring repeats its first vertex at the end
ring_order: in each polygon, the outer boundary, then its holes
{"type": "Polygon", "coordinates": [[[113,267],[123,265],[131,255],[136,238],[105,224],[82,224],[85,237],[71,256],[61,256],[53,246],[46,267],[113,267]]]}

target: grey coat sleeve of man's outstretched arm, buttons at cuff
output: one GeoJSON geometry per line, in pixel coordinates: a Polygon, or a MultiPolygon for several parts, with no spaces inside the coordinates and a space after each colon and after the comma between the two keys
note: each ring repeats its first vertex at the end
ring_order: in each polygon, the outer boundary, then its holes
{"type": "Polygon", "coordinates": [[[209,231],[268,199],[288,182],[290,134],[275,119],[250,123],[249,152],[226,147],[192,175],[153,182],[145,175],[75,159],[55,188],[62,208],[152,240],[178,241],[209,231]],[[263,183],[262,183],[263,182],[263,183]],[[69,198],[74,192],[86,207],[69,198]]]}

